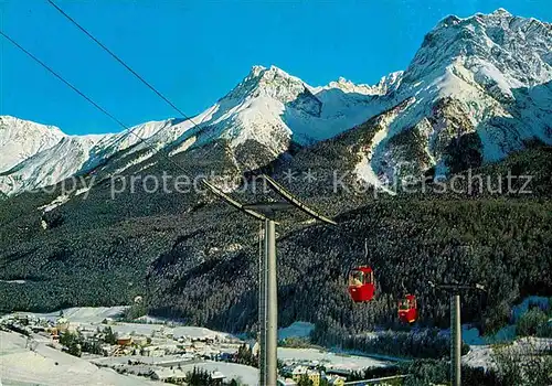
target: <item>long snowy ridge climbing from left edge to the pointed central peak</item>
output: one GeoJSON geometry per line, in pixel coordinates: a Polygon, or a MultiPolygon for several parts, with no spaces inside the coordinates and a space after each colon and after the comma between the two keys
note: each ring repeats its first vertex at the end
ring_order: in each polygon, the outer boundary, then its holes
{"type": "MultiPolygon", "coordinates": [[[[106,136],[70,137],[60,131],[57,143],[23,157],[0,174],[0,192],[15,194],[50,185],[102,167],[124,152],[125,162],[115,169],[120,173],[160,150],[174,156],[216,139],[227,141],[234,159],[240,152],[240,169],[255,169],[285,152],[291,140],[311,143],[327,139],[380,112],[383,107],[374,95],[392,87],[397,77],[393,74],[373,89],[350,82],[314,88],[275,66],[254,66],[225,97],[191,119],[151,121],[106,136]],[[253,151],[244,148],[252,143],[263,149],[261,158],[247,157],[253,151]]],[[[10,129],[18,131],[23,126],[10,129]]]]}

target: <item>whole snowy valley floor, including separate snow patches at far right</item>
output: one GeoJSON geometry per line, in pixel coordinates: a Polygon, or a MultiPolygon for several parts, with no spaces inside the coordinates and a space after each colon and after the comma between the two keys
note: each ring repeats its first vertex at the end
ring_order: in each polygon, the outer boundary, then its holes
{"type": "MultiPolygon", "coordinates": [[[[545,299],[545,298],[543,298],[545,299]]],[[[542,300],[531,298],[532,301],[542,300]]],[[[514,313],[527,311],[529,300],[514,309],[514,313]],[[527,304],[526,304],[527,303],[527,304]]],[[[70,331],[88,333],[92,340],[107,326],[118,337],[130,336],[132,346],[107,345],[107,356],[83,353],[76,357],[61,351],[62,345],[50,333],[36,333],[34,328],[55,325],[60,312],[30,313],[18,312],[0,317],[0,325],[8,325],[8,320],[29,320],[23,328],[28,339],[18,332],[0,330],[0,385],[153,385],[156,376],[170,377],[178,373],[185,376],[194,367],[210,374],[222,373],[225,379],[240,379],[245,385],[257,385],[258,369],[232,362],[221,362],[224,356],[237,353],[244,344],[227,333],[205,328],[185,326],[173,321],[142,317],[136,322],[117,320],[126,307],[71,308],[63,310],[70,323],[70,331]],[[94,337],[92,337],[94,335],[94,337]],[[145,342],[148,341],[146,344],[145,342]],[[142,342],[142,343],[138,343],[142,342]],[[216,361],[214,361],[216,360],[216,361]],[[153,376],[153,373],[156,374],[153,376]],[[125,375],[123,375],[125,374],[125,375]]],[[[59,322],[59,321],[57,321],[59,322]]],[[[15,324],[14,325],[24,325],[15,324]]],[[[308,337],[314,325],[295,322],[279,329],[279,339],[308,337]]],[[[40,329],[39,329],[40,330],[40,329]]],[[[47,330],[47,329],[46,329],[47,330]]],[[[506,330],[505,330],[506,331],[506,330]]],[[[470,351],[463,356],[463,363],[470,367],[496,368],[493,346],[496,337],[508,337],[501,342],[512,342],[508,350],[527,352],[529,347],[539,351],[550,350],[552,339],[516,339],[503,332],[491,337],[479,336],[476,329],[463,328],[463,339],[470,345],[470,351]],[[541,350],[542,349],[542,350],[541,350]]],[[[253,347],[254,342],[250,342],[253,347]]],[[[255,350],[255,349],[253,349],[255,350]]],[[[278,347],[278,360],[287,368],[297,366],[323,366],[325,368],[350,374],[365,368],[385,367],[401,360],[393,357],[362,356],[357,353],[337,353],[315,347],[278,347]]]]}

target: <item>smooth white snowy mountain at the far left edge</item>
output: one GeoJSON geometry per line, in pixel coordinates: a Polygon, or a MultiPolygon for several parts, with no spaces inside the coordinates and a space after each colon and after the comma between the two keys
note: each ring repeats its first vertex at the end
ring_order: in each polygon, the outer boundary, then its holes
{"type": "Polygon", "coordinates": [[[56,127],[0,116],[0,172],[49,149],[65,135],[56,127]]]}

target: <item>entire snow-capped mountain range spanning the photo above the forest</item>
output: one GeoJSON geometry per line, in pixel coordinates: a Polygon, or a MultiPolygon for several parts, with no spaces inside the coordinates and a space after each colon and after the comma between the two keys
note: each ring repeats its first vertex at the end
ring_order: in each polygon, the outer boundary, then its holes
{"type": "Polygon", "coordinates": [[[123,172],[151,162],[158,151],[173,157],[217,139],[236,168],[257,169],[291,141],[309,146],[330,139],[384,111],[371,143],[357,154],[358,178],[379,184],[378,179],[405,172],[447,174],[499,160],[527,140],[552,142],[551,52],[551,24],[500,9],[445,18],[404,72],[373,86],[339,78],[312,87],[275,66],[254,66],[226,96],[189,120],[68,137],[1,117],[0,191],[40,187],[120,154],[125,162],[113,170],[123,172]]]}

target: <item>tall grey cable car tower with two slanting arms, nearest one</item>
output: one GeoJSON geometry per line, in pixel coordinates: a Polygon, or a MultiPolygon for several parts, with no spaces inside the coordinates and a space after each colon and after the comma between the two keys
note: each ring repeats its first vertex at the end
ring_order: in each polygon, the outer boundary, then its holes
{"type": "Polygon", "coordinates": [[[261,175],[267,185],[284,201],[258,202],[242,204],[221,190],[203,180],[203,184],[227,204],[243,213],[264,222],[264,256],[259,262],[259,385],[276,386],[278,378],[277,344],[278,344],[278,283],[276,260],[276,214],[280,211],[297,208],[311,218],[326,224],[337,225],[332,219],[318,214],[297,200],[284,186],[266,174],[261,175]]]}

